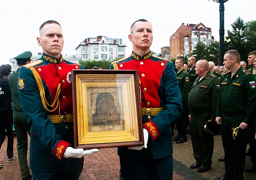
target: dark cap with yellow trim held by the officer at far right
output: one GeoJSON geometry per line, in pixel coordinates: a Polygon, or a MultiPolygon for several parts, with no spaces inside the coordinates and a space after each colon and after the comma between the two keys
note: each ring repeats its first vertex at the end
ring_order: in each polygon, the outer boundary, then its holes
{"type": "Polygon", "coordinates": [[[235,141],[240,141],[248,144],[251,139],[254,138],[254,130],[249,126],[247,126],[246,129],[240,129],[239,127],[232,128],[231,131],[233,134],[233,139],[235,139],[235,141]]]}

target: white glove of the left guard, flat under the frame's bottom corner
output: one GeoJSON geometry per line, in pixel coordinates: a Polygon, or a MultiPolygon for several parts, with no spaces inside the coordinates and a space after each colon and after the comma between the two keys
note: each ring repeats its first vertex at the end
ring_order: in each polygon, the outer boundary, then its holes
{"type": "Polygon", "coordinates": [[[72,147],[67,147],[66,151],[63,154],[63,156],[65,158],[73,157],[73,158],[81,159],[84,155],[93,154],[93,153],[95,153],[97,151],[100,151],[100,150],[99,149],[84,150],[83,148],[74,149],[72,147]]]}

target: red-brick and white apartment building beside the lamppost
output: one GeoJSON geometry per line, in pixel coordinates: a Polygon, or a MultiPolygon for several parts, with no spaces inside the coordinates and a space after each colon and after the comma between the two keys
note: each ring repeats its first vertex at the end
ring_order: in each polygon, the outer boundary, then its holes
{"type": "Polygon", "coordinates": [[[177,55],[189,55],[195,49],[198,42],[208,45],[214,42],[211,28],[204,24],[181,24],[175,33],[169,38],[170,42],[170,58],[177,58],[177,55]]]}

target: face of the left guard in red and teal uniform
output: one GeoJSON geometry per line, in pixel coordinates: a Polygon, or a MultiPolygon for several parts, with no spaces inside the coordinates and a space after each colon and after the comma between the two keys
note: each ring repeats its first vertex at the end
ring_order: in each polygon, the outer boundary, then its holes
{"type": "Polygon", "coordinates": [[[38,45],[43,52],[52,57],[59,58],[63,49],[64,39],[62,29],[58,24],[45,24],[37,38],[38,45]]]}

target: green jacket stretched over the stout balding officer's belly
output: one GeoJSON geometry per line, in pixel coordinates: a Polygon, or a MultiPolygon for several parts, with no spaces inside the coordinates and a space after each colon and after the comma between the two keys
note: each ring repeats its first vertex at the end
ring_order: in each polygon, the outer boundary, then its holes
{"type": "Polygon", "coordinates": [[[196,78],[189,93],[188,106],[190,113],[211,112],[211,120],[215,120],[220,79],[208,72],[201,81],[196,78]]]}

